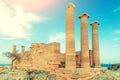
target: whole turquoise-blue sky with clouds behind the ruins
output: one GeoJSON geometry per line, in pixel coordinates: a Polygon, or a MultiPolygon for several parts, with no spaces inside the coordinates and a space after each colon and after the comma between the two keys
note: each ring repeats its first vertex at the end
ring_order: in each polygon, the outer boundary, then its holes
{"type": "MultiPolygon", "coordinates": [[[[17,45],[33,42],[61,43],[65,52],[66,6],[72,2],[75,8],[75,44],[80,50],[80,20],[84,12],[90,18],[88,23],[98,21],[101,63],[120,62],[120,1],[119,0],[1,0],[0,1],[0,63],[10,63],[2,52],[11,51],[17,45]],[[31,7],[32,6],[32,7],[31,7]]],[[[91,26],[89,28],[89,49],[92,49],[91,26]]]]}

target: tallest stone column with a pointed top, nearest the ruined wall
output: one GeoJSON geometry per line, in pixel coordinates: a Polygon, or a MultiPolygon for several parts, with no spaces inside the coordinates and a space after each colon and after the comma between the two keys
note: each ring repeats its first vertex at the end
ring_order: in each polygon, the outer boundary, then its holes
{"type": "Polygon", "coordinates": [[[75,6],[72,3],[69,3],[66,8],[66,69],[72,71],[76,69],[74,8],[75,6]]]}

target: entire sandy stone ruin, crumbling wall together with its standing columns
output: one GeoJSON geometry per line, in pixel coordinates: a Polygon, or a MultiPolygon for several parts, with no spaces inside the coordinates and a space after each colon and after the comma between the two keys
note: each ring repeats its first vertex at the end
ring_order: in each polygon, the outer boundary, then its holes
{"type": "MultiPolygon", "coordinates": [[[[32,43],[29,51],[25,51],[25,46],[21,47],[20,60],[13,62],[14,68],[46,70],[51,73],[61,73],[64,75],[73,72],[89,72],[91,67],[100,67],[98,22],[93,22],[92,26],[92,50],[89,50],[88,43],[88,14],[79,16],[81,22],[81,51],[75,51],[74,35],[74,9],[75,5],[69,3],[66,7],[66,52],[60,52],[60,43],[52,42],[32,43]]],[[[16,52],[16,45],[13,46],[13,53],[16,52]]],[[[58,74],[60,75],[60,74],[58,74]]],[[[67,76],[67,75],[66,75],[67,76]]],[[[70,75],[69,75],[70,76],[70,75]]],[[[68,77],[67,77],[68,78],[68,77]]],[[[56,79],[59,80],[59,79],[56,79]]],[[[63,79],[60,79],[63,80],[63,79]]],[[[64,79],[66,80],[66,79],[64,79]]],[[[70,79],[68,79],[70,80],[70,79]]]]}

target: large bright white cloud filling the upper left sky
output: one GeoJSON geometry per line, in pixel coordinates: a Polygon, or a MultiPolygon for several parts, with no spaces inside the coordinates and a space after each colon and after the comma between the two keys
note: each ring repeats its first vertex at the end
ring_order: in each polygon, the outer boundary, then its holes
{"type": "Polygon", "coordinates": [[[0,0],[0,39],[29,40],[30,33],[28,31],[32,27],[31,23],[46,19],[32,12],[25,12],[21,6],[11,7],[0,0]]]}

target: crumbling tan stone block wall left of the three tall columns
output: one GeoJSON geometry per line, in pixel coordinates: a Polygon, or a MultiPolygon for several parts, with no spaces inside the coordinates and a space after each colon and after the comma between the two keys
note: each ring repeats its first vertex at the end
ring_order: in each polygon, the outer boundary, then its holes
{"type": "Polygon", "coordinates": [[[59,56],[59,43],[32,43],[30,50],[21,53],[21,59],[13,62],[13,67],[25,69],[56,68],[61,62],[59,56]]]}

